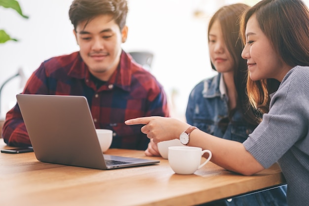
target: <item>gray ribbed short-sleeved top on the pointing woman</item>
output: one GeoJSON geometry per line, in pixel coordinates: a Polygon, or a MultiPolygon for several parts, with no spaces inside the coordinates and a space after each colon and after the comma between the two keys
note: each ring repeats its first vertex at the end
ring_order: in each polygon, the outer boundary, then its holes
{"type": "Polygon", "coordinates": [[[289,206],[309,206],[309,67],[286,74],[269,113],[243,145],[265,168],[278,162],[289,206]]]}

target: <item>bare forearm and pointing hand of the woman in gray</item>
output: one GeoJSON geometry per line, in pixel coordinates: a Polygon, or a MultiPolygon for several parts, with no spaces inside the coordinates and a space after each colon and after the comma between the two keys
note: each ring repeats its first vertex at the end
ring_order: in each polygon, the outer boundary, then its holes
{"type": "MultiPolygon", "coordinates": [[[[179,139],[180,134],[190,126],[177,119],[163,117],[136,118],[125,124],[145,124],[141,131],[155,143],[179,139]]],[[[191,132],[188,146],[210,150],[211,162],[237,173],[252,175],[264,169],[241,143],[218,138],[198,129],[191,132]]]]}

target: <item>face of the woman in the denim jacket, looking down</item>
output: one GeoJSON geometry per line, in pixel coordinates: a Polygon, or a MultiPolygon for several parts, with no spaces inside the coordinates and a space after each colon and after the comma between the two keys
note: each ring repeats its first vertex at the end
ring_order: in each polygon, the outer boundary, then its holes
{"type": "Polygon", "coordinates": [[[220,22],[214,21],[208,34],[208,47],[211,63],[220,73],[233,72],[234,61],[222,34],[220,22]]]}

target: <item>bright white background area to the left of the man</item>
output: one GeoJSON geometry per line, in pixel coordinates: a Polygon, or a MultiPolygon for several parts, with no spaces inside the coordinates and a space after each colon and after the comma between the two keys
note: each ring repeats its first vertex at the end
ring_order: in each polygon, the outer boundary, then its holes
{"type": "MultiPolygon", "coordinates": [[[[18,1],[29,19],[22,18],[12,9],[0,7],[0,28],[19,40],[0,44],[1,84],[20,67],[30,76],[43,60],[78,49],[68,17],[72,0],[18,1]]],[[[16,103],[15,94],[22,90],[19,81],[20,78],[15,78],[3,87],[1,117],[16,103]]]]}

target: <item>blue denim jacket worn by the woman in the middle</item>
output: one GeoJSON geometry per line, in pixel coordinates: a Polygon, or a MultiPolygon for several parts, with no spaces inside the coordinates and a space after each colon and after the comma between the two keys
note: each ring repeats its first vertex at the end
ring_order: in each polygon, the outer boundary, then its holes
{"type": "Polygon", "coordinates": [[[238,111],[225,131],[219,126],[219,122],[227,119],[229,114],[228,96],[221,79],[219,74],[199,82],[193,88],[186,111],[187,122],[208,134],[242,143],[255,126],[246,124],[238,111]]]}

